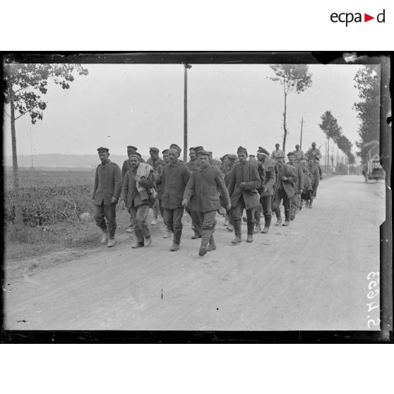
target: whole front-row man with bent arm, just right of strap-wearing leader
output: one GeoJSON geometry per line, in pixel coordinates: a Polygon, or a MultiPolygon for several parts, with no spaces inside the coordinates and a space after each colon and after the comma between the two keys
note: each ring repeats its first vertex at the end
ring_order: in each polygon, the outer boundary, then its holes
{"type": "Polygon", "coordinates": [[[246,241],[253,242],[254,211],[260,204],[260,195],[257,191],[260,186],[257,162],[247,161],[248,152],[242,146],[239,146],[237,155],[239,162],[232,169],[229,183],[232,222],[235,232],[235,238],[232,240],[232,244],[239,244],[242,241],[241,217],[244,209],[246,209],[248,231],[246,241]]]}

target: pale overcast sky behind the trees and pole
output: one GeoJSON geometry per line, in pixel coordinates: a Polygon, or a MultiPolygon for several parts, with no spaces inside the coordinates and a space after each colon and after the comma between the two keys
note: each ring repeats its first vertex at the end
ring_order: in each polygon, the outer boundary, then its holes
{"type": "MultiPolygon", "coordinates": [[[[170,143],[183,148],[184,67],[182,65],[89,64],[88,76],[76,76],[68,90],[49,85],[44,119],[30,125],[30,117],[16,121],[18,155],[44,153],[95,154],[105,146],[126,155],[127,145],[148,155],[170,143]],[[30,143],[31,128],[31,143],[30,143]]],[[[359,101],[354,88],[358,65],[311,65],[313,85],[287,99],[287,151],[299,143],[304,117],[303,150],[313,141],[322,145],[320,117],[330,110],[354,144],[359,101]]],[[[203,145],[214,157],[236,153],[239,145],[249,154],[258,146],[282,146],[282,85],[270,80],[268,65],[193,65],[189,70],[189,147],[203,145]]],[[[4,154],[11,155],[8,117],[4,154]]],[[[357,148],[353,147],[353,153],[357,148]]],[[[322,152],[323,153],[323,152],[322,152]]],[[[183,155],[183,153],[182,153],[183,155]]]]}

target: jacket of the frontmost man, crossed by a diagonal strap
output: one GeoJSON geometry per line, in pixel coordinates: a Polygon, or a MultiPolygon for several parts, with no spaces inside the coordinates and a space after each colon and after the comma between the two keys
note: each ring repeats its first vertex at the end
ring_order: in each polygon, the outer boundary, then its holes
{"type": "Polygon", "coordinates": [[[223,203],[229,204],[229,192],[220,169],[210,165],[205,169],[194,169],[186,189],[184,197],[191,201],[191,210],[197,212],[209,212],[220,208],[220,196],[223,203]]]}

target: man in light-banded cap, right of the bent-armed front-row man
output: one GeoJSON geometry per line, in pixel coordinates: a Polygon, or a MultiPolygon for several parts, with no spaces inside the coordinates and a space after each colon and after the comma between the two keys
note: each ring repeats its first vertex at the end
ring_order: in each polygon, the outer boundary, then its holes
{"type": "Polygon", "coordinates": [[[263,234],[267,234],[270,230],[271,225],[271,203],[274,193],[274,185],[275,185],[275,160],[270,158],[270,153],[268,150],[258,147],[257,151],[257,160],[261,163],[260,169],[260,178],[261,178],[261,186],[259,189],[260,192],[260,202],[263,208],[263,215],[264,215],[264,228],[261,229],[260,225],[260,210],[256,210],[255,219],[256,219],[256,232],[262,232],[263,234]]]}

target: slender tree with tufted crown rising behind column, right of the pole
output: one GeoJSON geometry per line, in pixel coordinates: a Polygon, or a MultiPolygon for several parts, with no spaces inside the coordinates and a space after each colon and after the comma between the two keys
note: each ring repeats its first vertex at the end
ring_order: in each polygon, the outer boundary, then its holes
{"type": "Polygon", "coordinates": [[[306,88],[312,85],[312,74],[309,73],[306,64],[273,64],[270,66],[275,73],[275,77],[270,77],[271,80],[279,80],[283,85],[283,93],[285,95],[285,110],[283,112],[283,152],[286,150],[287,137],[287,95],[295,90],[297,94],[304,92],[306,88]]]}

